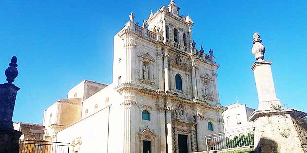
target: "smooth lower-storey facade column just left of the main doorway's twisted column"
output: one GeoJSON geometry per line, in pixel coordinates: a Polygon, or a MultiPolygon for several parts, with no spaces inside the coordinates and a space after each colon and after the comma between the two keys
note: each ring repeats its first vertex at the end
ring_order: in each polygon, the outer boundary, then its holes
{"type": "Polygon", "coordinates": [[[173,153],[173,130],[172,130],[172,107],[167,106],[166,111],[166,128],[167,128],[167,151],[173,153]]]}

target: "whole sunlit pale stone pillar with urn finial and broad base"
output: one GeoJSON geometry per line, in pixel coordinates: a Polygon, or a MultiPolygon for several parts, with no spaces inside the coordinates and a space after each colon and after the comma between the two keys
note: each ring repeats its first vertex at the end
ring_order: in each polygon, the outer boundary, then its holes
{"type": "Polygon", "coordinates": [[[256,62],[251,69],[254,72],[258,110],[249,120],[254,122],[255,153],[306,153],[307,124],[303,118],[307,113],[291,108],[283,108],[276,98],[271,72],[272,61],[264,60],[265,47],[260,35],[253,35],[252,54],[256,62]]]}

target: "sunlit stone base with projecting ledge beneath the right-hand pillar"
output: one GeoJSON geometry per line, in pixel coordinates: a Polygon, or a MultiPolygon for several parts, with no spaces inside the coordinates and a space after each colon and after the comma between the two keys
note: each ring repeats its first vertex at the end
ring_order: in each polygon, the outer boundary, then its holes
{"type": "Polygon", "coordinates": [[[255,153],[305,153],[307,152],[307,113],[294,109],[257,110],[254,121],[255,153]]]}

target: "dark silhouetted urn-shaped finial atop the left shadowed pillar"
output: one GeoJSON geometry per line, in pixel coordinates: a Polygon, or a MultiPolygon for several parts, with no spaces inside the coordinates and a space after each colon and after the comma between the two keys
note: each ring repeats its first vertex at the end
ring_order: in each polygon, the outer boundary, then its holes
{"type": "Polygon", "coordinates": [[[12,84],[12,82],[15,81],[15,78],[18,76],[18,70],[17,68],[17,57],[13,56],[11,59],[11,63],[9,64],[9,67],[5,70],[5,76],[6,76],[6,84],[12,84]]]}

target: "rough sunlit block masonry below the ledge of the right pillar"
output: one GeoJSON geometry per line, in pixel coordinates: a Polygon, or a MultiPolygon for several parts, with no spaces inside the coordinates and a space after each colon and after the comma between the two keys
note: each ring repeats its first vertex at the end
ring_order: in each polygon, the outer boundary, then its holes
{"type": "Polygon", "coordinates": [[[260,117],[255,126],[256,153],[307,152],[307,130],[289,114],[260,117]]]}

